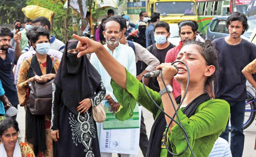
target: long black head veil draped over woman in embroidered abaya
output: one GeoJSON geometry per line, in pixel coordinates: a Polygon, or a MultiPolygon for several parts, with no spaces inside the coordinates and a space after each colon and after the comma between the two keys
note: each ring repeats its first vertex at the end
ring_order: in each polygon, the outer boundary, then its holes
{"type": "Polygon", "coordinates": [[[66,43],[54,83],[62,90],[63,104],[78,115],[77,107],[83,99],[90,98],[100,85],[100,74],[90,63],[86,55],[77,58],[77,53],[68,53],[76,49],[78,41],[66,43]]]}

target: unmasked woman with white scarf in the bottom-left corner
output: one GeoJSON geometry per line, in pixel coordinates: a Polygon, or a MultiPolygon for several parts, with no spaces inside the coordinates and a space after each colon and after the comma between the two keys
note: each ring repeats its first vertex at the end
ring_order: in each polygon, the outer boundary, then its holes
{"type": "Polygon", "coordinates": [[[18,123],[11,117],[0,121],[0,156],[35,157],[31,147],[19,141],[18,123]]]}

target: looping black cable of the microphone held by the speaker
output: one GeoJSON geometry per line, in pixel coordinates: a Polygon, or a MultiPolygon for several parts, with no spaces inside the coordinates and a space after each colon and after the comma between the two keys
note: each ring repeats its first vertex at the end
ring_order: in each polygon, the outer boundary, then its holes
{"type": "Polygon", "coordinates": [[[190,146],[190,144],[189,144],[189,141],[188,141],[188,135],[187,135],[185,129],[182,127],[181,122],[180,122],[180,118],[179,118],[179,116],[178,116],[178,114],[177,114],[177,110],[179,110],[179,108],[180,108],[180,106],[181,106],[181,104],[182,104],[182,102],[183,102],[183,100],[184,100],[184,98],[185,98],[185,96],[186,96],[186,94],[187,94],[188,85],[189,85],[190,73],[189,73],[189,69],[188,69],[187,64],[184,63],[183,61],[175,61],[175,62],[173,62],[171,65],[173,65],[174,63],[177,63],[177,62],[181,62],[182,64],[184,64],[184,65],[186,66],[186,68],[187,68],[187,71],[188,71],[187,87],[186,87],[186,90],[185,90],[185,93],[184,93],[184,97],[181,99],[181,102],[180,102],[180,104],[178,105],[178,108],[177,108],[177,109],[175,108],[175,105],[174,105],[173,100],[172,100],[172,98],[171,98],[170,92],[169,92],[169,90],[168,90],[168,88],[167,88],[167,86],[166,86],[166,84],[165,84],[165,82],[164,82],[162,70],[160,71],[161,79],[162,79],[162,81],[163,81],[164,87],[165,87],[165,89],[166,89],[166,91],[167,91],[167,93],[168,93],[168,96],[169,96],[169,98],[170,98],[170,100],[171,100],[171,103],[172,103],[172,106],[173,106],[173,109],[174,109],[174,112],[175,112],[172,117],[171,117],[170,115],[168,115],[166,112],[164,112],[163,109],[161,109],[161,107],[158,106],[158,105],[156,104],[156,102],[152,99],[152,97],[151,97],[150,94],[148,93],[148,90],[147,90],[147,88],[146,88],[146,86],[145,86],[145,83],[144,83],[144,78],[145,78],[145,76],[144,76],[144,75],[143,75],[143,77],[142,77],[142,84],[143,84],[143,87],[144,87],[144,89],[145,89],[147,95],[149,96],[150,100],[154,103],[154,105],[155,105],[161,112],[163,112],[167,117],[169,117],[169,118],[171,119],[171,121],[170,121],[170,123],[168,124],[168,127],[167,127],[167,129],[166,129],[166,131],[165,131],[165,138],[164,138],[164,145],[165,145],[167,151],[168,151],[170,154],[174,155],[174,156],[179,156],[179,155],[184,154],[184,153],[186,152],[186,150],[189,148],[190,151],[191,151],[192,156],[195,157],[195,155],[194,155],[194,153],[193,153],[193,150],[192,150],[192,148],[191,148],[191,146],[190,146]],[[178,122],[177,122],[176,120],[174,120],[175,115],[176,115],[176,117],[177,117],[177,119],[178,119],[178,122]],[[175,123],[181,128],[181,130],[182,130],[182,132],[183,132],[183,134],[184,134],[184,137],[185,137],[185,139],[186,139],[186,142],[187,142],[187,147],[186,147],[186,149],[185,149],[182,153],[180,153],[180,154],[174,154],[174,153],[172,153],[172,152],[168,149],[167,142],[166,142],[166,140],[167,140],[167,133],[168,133],[168,130],[169,130],[169,127],[170,127],[172,121],[175,122],[175,123]]]}

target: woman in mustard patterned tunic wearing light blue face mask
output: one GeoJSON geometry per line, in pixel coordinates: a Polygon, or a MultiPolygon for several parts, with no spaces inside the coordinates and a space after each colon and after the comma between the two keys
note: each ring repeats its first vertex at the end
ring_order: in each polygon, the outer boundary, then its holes
{"type": "Polygon", "coordinates": [[[36,54],[28,58],[20,66],[17,92],[19,103],[26,108],[26,143],[28,143],[35,152],[35,155],[53,156],[53,140],[50,131],[49,115],[32,115],[28,106],[28,85],[27,82],[47,82],[55,78],[60,61],[54,57],[47,55],[50,49],[49,32],[42,27],[34,26],[29,31],[30,42],[36,54]],[[55,60],[55,61],[54,61],[55,60]],[[54,61],[54,63],[53,63],[54,61]],[[52,68],[52,64],[53,68],[52,68]]]}

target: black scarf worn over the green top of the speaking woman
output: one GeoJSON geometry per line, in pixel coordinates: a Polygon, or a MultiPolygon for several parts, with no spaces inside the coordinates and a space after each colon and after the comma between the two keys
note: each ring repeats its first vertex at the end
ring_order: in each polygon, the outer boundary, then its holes
{"type": "MultiPolygon", "coordinates": [[[[207,93],[201,94],[196,97],[191,103],[189,103],[185,109],[182,111],[188,118],[195,114],[198,106],[203,102],[209,100],[210,97],[207,93]]],[[[181,96],[178,96],[176,99],[176,103],[179,104],[181,101],[181,96]]],[[[163,132],[165,131],[166,120],[164,113],[161,112],[156,118],[149,137],[149,145],[146,157],[159,157],[161,150],[161,140],[163,132]]],[[[172,151],[171,145],[168,145],[168,149],[172,151]]],[[[189,148],[188,148],[189,149],[189,148]]],[[[168,152],[167,157],[172,157],[172,155],[168,152]]]]}

